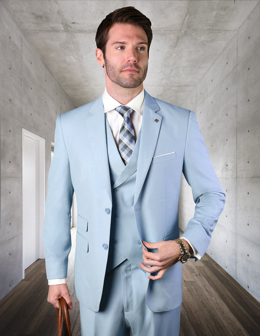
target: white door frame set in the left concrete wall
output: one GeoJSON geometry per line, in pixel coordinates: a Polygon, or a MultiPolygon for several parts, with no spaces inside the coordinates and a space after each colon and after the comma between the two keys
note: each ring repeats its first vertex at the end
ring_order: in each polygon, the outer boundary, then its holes
{"type": "MultiPolygon", "coordinates": [[[[22,128],[22,148],[24,145],[23,142],[25,136],[32,138],[38,141],[39,143],[39,257],[40,259],[43,259],[45,257],[43,240],[42,240],[43,222],[45,213],[45,139],[41,138],[39,135],[36,135],[28,131],[27,129],[22,128]]],[[[23,160],[24,157],[22,155],[22,167],[24,167],[23,160]]],[[[22,265],[22,278],[24,279],[24,265],[22,265]]]]}

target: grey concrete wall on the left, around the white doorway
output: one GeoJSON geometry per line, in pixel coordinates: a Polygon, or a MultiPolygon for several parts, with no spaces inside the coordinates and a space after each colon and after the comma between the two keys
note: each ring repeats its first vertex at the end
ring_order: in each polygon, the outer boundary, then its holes
{"type": "Polygon", "coordinates": [[[22,127],[45,138],[47,175],[56,117],[72,108],[0,3],[0,299],[22,277],[22,127]]]}

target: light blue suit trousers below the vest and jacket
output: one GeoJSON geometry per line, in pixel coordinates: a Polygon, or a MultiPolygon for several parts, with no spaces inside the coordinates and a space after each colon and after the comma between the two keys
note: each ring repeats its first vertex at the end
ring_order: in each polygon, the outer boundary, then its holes
{"type": "Polygon", "coordinates": [[[147,307],[147,275],[128,260],[107,273],[100,311],[80,303],[81,336],[179,336],[180,306],[159,313],[147,307]]]}

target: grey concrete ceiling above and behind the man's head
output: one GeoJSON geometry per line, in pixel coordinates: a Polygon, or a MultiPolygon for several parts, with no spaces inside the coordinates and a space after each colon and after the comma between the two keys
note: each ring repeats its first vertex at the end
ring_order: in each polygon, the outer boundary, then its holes
{"type": "Polygon", "coordinates": [[[103,69],[95,34],[116,8],[135,6],[152,21],[144,82],[153,96],[185,107],[185,99],[259,1],[1,0],[75,106],[100,96],[103,69]]]}

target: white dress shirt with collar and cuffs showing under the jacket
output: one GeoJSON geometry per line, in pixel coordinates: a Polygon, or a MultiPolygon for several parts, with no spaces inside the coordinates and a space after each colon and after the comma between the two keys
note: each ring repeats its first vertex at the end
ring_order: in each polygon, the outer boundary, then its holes
{"type": "MultiPolygon", "coordinates": [[[[132,99],[128,104],[126,104],[126,106],[133,109],[133,112],[130,114],[130,120],[135,130],[136,139],[139,135],[139,131],[142,125],[143,100],[144,100],[144,89],[142,89],[142,91],[134,99],[132,99]]],[[[106,114],[107,121],[109,123],[113,137],[118,147],[119,133],[120,133],[120,128],[123,123],[123,117],[120,115],[120,113],[118,113],[115,110],[115,108],[117,108],[118,106],[121,106],[122,104],[120,104],[116,99],[111,97],[110,94],[107,92],[106,88],[102,95],[102,101],[103,101],[104,112],[106,114]]],[[[181,239],[185,239],[190,244],[193,250],[191,255],[200,259],[201,258],[200,253],[198,253],[198,251],[193,247],[193,245],[188,241],[188,239],[182,236],[181,236],[181,239]]],[[[49,285],[61,285],[65,283],[66,283],[66,278],[48,280],[49,285]]]]}

